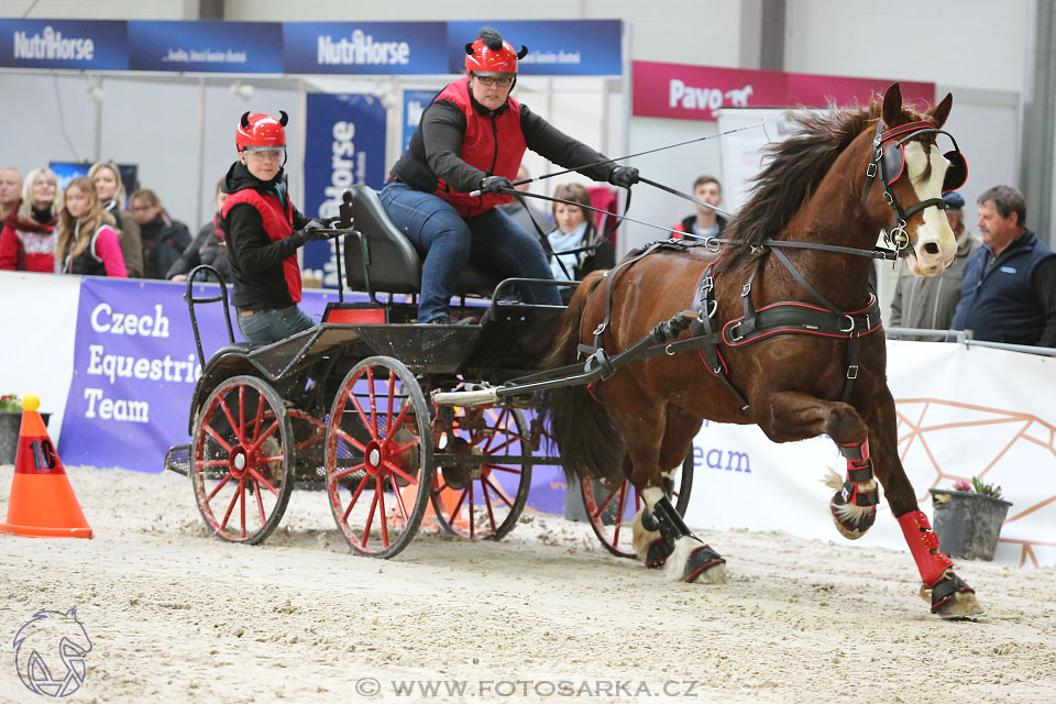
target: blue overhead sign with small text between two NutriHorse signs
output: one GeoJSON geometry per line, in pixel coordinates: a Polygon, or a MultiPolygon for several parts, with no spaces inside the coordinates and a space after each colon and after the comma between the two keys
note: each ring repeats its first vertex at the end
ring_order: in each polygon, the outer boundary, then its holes
{"type": "Polygon", "coordinates": [[[275,22],[129,22],[132,70],[282,74],[275,22]]]}

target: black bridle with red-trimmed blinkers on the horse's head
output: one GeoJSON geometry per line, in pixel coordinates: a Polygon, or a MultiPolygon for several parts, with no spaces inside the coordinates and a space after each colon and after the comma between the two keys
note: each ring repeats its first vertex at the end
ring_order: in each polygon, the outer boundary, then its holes
{"type": "Polygon", "coordinates": [[[946,169],[946,176],[943,179],[943,193],[957,190],[968,179],[968,163],[965,161],[960,147],[957,146],[957,140],[949,132],[935,128],[932,122],[926,120],[908,122],[890,130],[884,130],[883,120],[877,122],[877,133],[872,138],[872,160],[866,167],[866,187],[861,194],[861,205],[866,205],[872,182],[879,175],[880,185],[883,187],[883,200],[894,211],[894,224],[883,229],[883,241],[900,254],[910,244],[910,235],[905,232],[905,224],[912,216],[932,206],[942,210],[946,209],[946,202],[942,198],[928,198],[903,210],[894,196],[894,191],[891,190],[894,182],[901,178],[905,172],[905,143],[923,134],[945,134],[954,144],[952,151],[943,154],[949,162],[949,167],[946,169]],[[901,139],[887,147],[883,146],[884,142],[895,138],[901,139]]]}

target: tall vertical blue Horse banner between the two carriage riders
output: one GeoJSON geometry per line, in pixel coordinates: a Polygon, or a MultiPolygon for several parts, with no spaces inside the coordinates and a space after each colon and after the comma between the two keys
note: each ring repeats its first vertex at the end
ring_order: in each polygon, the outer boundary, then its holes
{"type": "MultiPolygon", "coordinates": [[[[309,218],[337,218],[349,186],[381,189],[385,183],[387,111],[376,96],[360,94],[310,94],[307,107],[304,212],[309,218]]],[[[324,287],[336,288],[333,241],[308,242],[304,254],[304,268],[320,277],[324,287]]]]}

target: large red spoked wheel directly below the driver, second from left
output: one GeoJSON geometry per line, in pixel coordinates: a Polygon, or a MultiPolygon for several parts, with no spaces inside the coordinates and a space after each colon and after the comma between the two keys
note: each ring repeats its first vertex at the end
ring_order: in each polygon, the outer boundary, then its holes
{"type": "Polygon", "coordinates": [[[341,383],[327,428],[327,493],[341,535],[359,554],[397,554],[418,531],[431,488],[421,387],[397,360],[363,360],[341,383]]]}

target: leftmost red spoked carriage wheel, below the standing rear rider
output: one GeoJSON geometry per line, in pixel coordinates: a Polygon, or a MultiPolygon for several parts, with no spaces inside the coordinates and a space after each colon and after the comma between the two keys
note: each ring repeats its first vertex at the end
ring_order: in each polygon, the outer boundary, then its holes
{"type": "Polygon", "coordinates": [[[195,422],[190,481],[202,519],[221,540],[263,542],[294,488],[294,432],[278,393],[255,376],[232,376],[195,422]]]}

